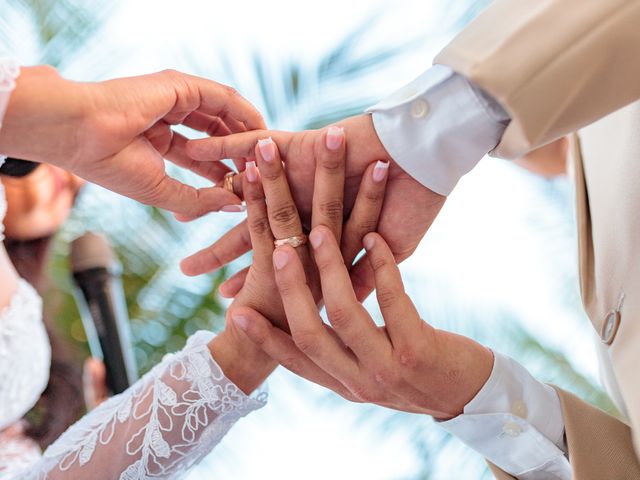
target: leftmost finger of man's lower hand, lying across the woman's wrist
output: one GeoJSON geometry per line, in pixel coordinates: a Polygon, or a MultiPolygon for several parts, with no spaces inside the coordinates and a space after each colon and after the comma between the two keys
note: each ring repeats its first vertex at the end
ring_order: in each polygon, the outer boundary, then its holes
{"type": "Polygon", "coordinates": [[[239,307],[231,313],[231,319],[253,343],[287,370],[345,398],[353,399],[342,383],[313,363],[289,335],[274,327],[255,310],[239,307]]]}

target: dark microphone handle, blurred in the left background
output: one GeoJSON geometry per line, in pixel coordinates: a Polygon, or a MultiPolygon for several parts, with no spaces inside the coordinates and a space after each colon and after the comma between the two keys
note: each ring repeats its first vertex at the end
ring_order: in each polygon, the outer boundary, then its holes
{"type": "Polygon", "coordinates": [[[104,361],[109,390],[121,393],[138,375],[120,278],[106,268],[75,272],[74,278],[82,292],[80,310],[91,353],[104,361]],[[101,352],[94,352],[95,337],[101,352]]]}

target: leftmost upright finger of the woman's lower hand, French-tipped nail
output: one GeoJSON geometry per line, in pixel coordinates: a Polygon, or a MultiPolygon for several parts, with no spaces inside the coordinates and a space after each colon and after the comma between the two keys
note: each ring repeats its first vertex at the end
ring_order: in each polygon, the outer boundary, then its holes
{"type": "Polygon", "coordinates": [[[271,275],[273,234],[271,233],[260,172],[255,162],[247,162],[242,188],[247,204],[247,225],[253,247],[253,265],[258,271],[266,271],[271,275]]]}

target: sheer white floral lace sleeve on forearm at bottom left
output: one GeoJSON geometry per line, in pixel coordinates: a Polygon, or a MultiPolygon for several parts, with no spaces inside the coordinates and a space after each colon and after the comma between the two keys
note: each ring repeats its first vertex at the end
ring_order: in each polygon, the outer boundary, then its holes
{"type": "Polygon", "coordinates": [[[19,478],[180,478],[231,426],[261,408],[211,357],[198,332],[131,388],[80,419],[19,478]]]}

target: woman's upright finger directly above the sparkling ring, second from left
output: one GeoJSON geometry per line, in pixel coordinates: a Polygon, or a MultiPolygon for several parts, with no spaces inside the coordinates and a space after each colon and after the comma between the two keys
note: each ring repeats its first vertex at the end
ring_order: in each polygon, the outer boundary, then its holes
{"type": "Polygon", "coordinates": [[[301,235],[302,222],[289,190],[278,147],[271,138],[266,138],[258,142],[255,152],[274,238],[301,235]]]}

